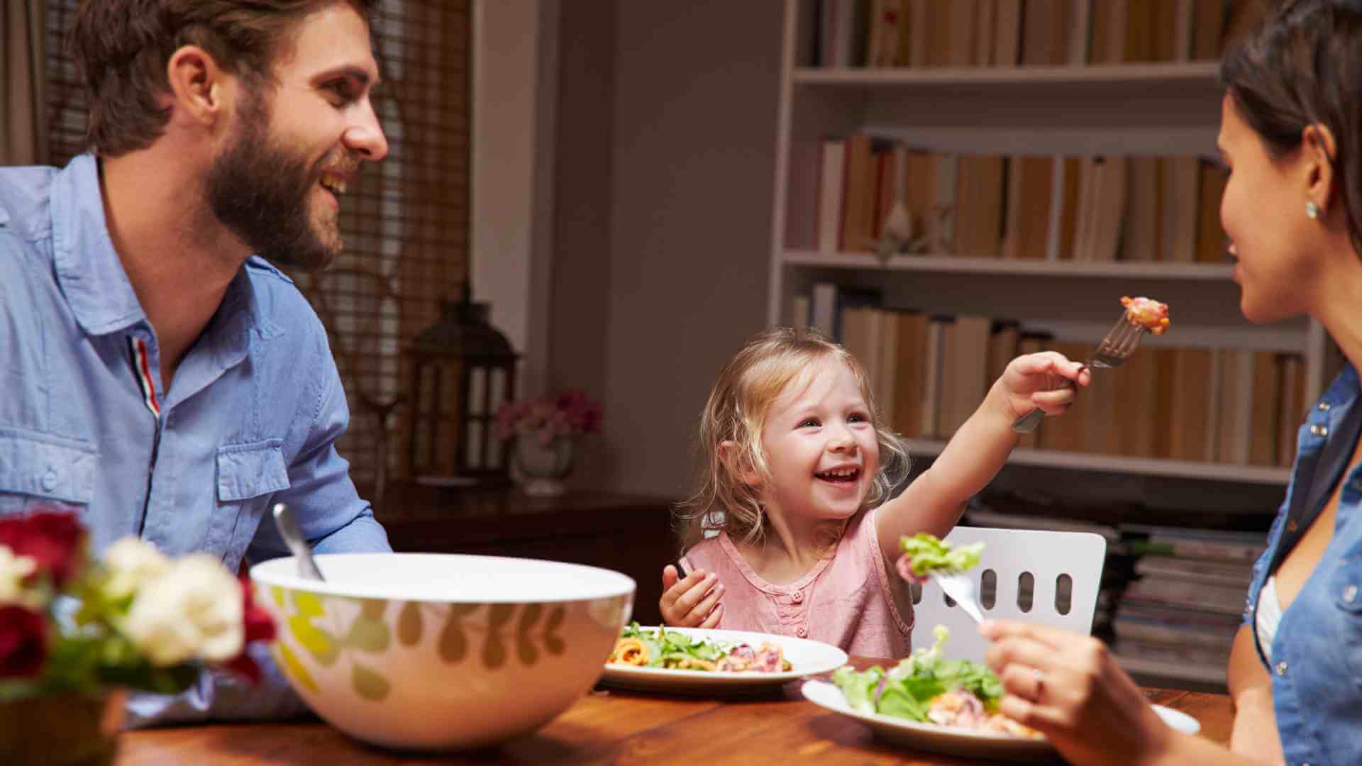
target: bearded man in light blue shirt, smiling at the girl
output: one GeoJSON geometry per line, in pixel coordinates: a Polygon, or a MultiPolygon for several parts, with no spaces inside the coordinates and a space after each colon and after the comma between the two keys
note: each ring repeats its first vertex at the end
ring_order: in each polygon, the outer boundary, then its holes
{"type": "MultiPolygon", "coordinates": [[[[335,450],[326,333],[268,263],[330,262],[336,195],[387,154],[376,3],[82,3],[90,153],[0,169],[0,514],[65,506],[94,555],[138,534],[236,570],[285,553],[283,502],[317,551],[390,549],[335,450]]],[[[300,709],[267,679],[204,673],[129,722],[300,709]]]]}

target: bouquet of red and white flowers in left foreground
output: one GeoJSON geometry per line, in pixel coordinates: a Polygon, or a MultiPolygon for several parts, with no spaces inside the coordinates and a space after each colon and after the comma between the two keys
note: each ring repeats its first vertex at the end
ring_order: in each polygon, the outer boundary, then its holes
{"type": "MultiPolygon", "coordinates": [[[[61,716],[59,740],[80,740],[76,711],[91,702],[102,707],[116,695],[121,720],[124,690],[180,692],[206,664],[260,677],[245,649],[272,639],[274,622],[252,604],[248,581],[210,553],[170,559],[135,537],[118,540],[95,560],[86,537],[65,511],[0,518],[5,758],[41,746],[45,761],[53,762],[57,743],[39,743],[45,722],[34,720],[42,701],[56,701],[48,707],[61,716]]],[[[109,737],[117,725],[109,732],[105,720],[93,729],[109,737]]]]}

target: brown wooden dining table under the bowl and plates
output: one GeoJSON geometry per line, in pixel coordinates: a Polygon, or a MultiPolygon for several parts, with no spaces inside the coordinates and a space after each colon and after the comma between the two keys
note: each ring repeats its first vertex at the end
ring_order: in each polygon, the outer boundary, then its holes
{"type": "MultiPolygon", "coordinates": [[[[892,661],[853,657],[859,669],[892,661]]],[[[804,699],[802,681],[759,696],[667,696],[597,687],[539,731],[475,752],[422,754],[381,750],[317,720],[212,724],[124,732],[118,766],[256,766],[319,763],[391,766],[425,763],[975,763],[907,750],[872,736],[859,721],[804,699]]],[[[1230,740],[1230,698],[1145,688],[1151,703],[1188,713],[1199,736],[1230,740]]]]}

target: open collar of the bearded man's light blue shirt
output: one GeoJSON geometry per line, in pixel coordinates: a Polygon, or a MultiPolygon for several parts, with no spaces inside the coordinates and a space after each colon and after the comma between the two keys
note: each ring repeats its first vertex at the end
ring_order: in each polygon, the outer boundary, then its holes
{"type": "MultiPolygon", "coordinates": [[[[93,154],[74,158],[52,185],[52,248],[57,281],[71,313],[91,335],[117,333],[147,319],[109,239],[99,189],[99,164],[93,154]]],[[[278,328],[262,316],[260,303],[242,266],[227,285],[222,305],[208,322],[217,353],[225,360],[245,356],[252,328],[263,337],[278,328]]]]}

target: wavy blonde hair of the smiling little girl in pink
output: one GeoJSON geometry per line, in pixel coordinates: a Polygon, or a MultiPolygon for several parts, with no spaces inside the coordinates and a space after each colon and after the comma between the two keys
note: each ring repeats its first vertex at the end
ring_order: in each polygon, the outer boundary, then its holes
{"type": "MultiPolygon", "coordinates": [[[[722,530],[749,544],[763,540],[767,522],[761,487],[771,480],[771,470],[761,448],[761,429],[771,405],[786,387],[812,365],[829,360],[846,364],[855,375],[880,444],[880,470],[866,493],[865,507],[888,500],[907,477],[907,447],[902,436],[880,421],[861,363],[817,330],[763,330],[725,365],[700,414],[695,493],[676,508],[682,551],[699,542],[707,530],[722,530]],[[723,442],[734,442],[737,450],[725,455],[719,448],[723,442]],[[752,476],[760,480],[744,478],[752,476]]],[[[840,537],[843,526],[838,522],[829,536],[832,541],[840,537]]]]}

